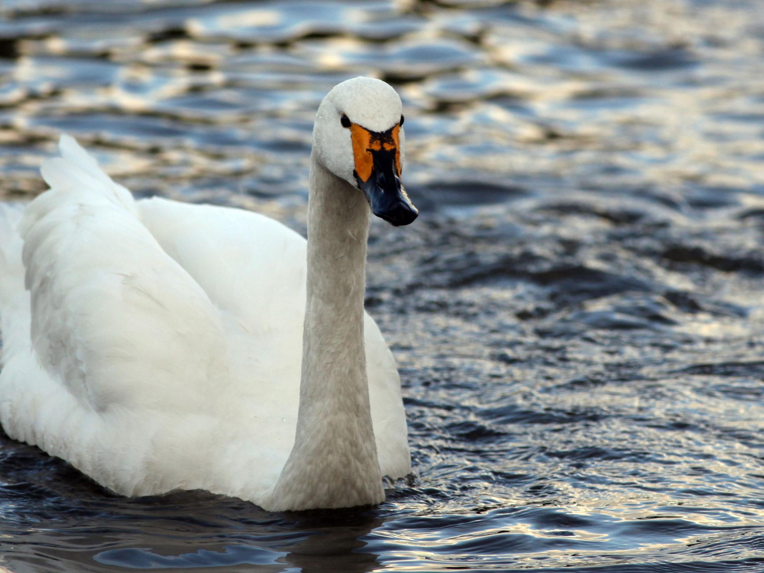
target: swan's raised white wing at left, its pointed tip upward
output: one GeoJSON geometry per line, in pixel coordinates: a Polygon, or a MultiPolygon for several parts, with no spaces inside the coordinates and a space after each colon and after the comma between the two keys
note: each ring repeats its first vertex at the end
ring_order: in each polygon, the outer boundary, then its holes
{"type": "Polygon", "coordinates": [[[124,188],[73,139],[60,147],[21,224],[37,358],[96,411],[204,407],[228,373],[215,307],[124,188]]]}

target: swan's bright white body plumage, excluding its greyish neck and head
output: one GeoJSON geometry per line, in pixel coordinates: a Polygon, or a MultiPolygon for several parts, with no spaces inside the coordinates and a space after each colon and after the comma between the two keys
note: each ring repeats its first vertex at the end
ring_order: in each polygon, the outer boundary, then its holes
{"type": "MultiPolygon", "coordinates": [[[[50,190],[23,217],[0,209],[8,435],[118,494],[202,488],[276,510],[353,504],[274,494],[295,441],[306,240],[239,209],[134,201],[66,135],[42,173],[50,190]]],[[[380,473],[397,478],[410,471],[400,381],[374,320],[362,320],[380,473]]]]}

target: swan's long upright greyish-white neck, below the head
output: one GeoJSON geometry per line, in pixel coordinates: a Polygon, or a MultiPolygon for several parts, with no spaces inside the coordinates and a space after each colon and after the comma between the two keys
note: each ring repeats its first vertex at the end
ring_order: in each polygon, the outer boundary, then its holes
{"type": "Polygon", "coordinates": [[[369,212],[363,193],[312,154],[299,413],[272,510],[384,501],[364,351],[369,212]]]}

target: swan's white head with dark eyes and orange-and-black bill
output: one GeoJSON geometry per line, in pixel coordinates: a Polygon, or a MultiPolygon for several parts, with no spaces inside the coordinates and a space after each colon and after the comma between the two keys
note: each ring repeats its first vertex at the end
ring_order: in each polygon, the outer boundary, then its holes
{"type": "Polygon", "coordinates": [[[380,79],[335,86],[319,105],[313,151],[336,176],[360,189],[374,215],[408,225],[419,212],[400,183],[403,114],[400,97],[380,79]]]}

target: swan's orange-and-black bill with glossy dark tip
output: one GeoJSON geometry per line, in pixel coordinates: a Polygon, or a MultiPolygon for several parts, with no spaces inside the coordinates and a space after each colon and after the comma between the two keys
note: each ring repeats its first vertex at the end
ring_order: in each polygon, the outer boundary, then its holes
{"type": "Polygon", "coordinates": [[[374,215],[391,225],[409,225],[419,211],[400,183],[400,124],[387,131],[371,131],[351,123],[353,175],[374,215]]]}

